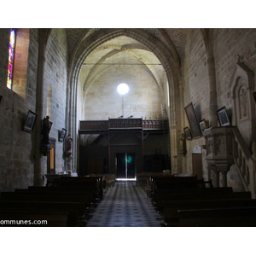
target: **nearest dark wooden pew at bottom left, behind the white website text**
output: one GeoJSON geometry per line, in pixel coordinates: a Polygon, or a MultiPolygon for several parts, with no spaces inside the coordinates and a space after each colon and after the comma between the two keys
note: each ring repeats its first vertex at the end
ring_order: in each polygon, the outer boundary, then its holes
{"type": "Polygon", "coordinates": [[[68,212],[0,211],[1,226],[67,227],[68,212]]]}

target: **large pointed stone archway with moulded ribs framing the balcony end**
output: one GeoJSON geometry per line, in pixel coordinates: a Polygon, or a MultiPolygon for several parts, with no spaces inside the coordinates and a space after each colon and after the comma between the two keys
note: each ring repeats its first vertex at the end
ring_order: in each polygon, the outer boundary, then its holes
{"type": "MultiPolygon", "coordinates": [[[[76,119],[76,101],[78,91],[78,79],[79,71],[83,65],[84,60],[90,55],[90,52],[96,49],[97,46],[107,42],[111,38],[126,36],[136,39],[141,44],[145,45],[159,60],[165,69],[168,84],[170,84],[170,137],[171,137],[171,151],[172,151],[172,172],[177,173],[177,170],[182,170],[182,156],[177,154],[177,134],[183,131],[183,113],[181,109],[183,107],[183,93],[180,91],[180,71],[177,58],[173,56],[173,53],[166,48],[159,38],[149,35],[140,29],[106,29],[104,31],[98,31],[86,38],[83,42],[80,42],[79,48],[74,50],[75,54],[72,56],[72,65],[69,73],[68,99],[67,105],[67,127],[72,132],[73,137],[76,137],[78,131],[78,120],[76,119]],[[176,59],[176,61],[175,61],[176,59]],[[178,95],[178,96],[177,96],[178,95]],[[73,107],[72,107],[73,106],[73,107]],[[72,108],[71,108],[72,107],[72,108]],[[69,110],[70,109],[70,110],[69,110]],[[177,122],[177,117],[180,120],[177,122]]],[[[77,148],[76,142],[74,147],[77,148]]],[[[74,160],[73,165],[76,165],[74,160]]]]}

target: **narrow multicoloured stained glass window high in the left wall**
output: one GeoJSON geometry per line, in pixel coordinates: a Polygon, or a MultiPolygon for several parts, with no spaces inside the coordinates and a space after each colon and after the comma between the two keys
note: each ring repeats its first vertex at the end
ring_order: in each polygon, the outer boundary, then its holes
{"type": "Polygon", "coordinates": [[[7,87],[12,89],[13,82],[13,66],[14,66],[14,58],[15,58],[15,38],[16,32],[15,28],[10,30],[9,34],[9,63],[8,63],[8,74],[7,74],[7,87]]]}

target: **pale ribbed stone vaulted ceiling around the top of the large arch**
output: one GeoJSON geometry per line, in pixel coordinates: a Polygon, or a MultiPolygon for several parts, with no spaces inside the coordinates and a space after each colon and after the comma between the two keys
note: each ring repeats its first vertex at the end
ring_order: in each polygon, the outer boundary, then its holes
{"type": "MultiPolygon", "coordinates": [[[[83,47],[83,42],[97,35],[104,35],[105,29],[96,28],[67,28],[67,47],[69,58],[76,55],[78,49],[83,47]]],[[[129,29],[127,29],[129,30],[129,29]]],[[[150,41],[157,38],[172,52],[173,59],[180,63],[183,57],[183,33],[185,29],[178,28],[146,28],[143,31],[145,38],[150,41]]],[[[102,42],[89,55],[87,55],[80,69],[80,81],[83,81],[84,89],[96,79],[98,75],[108,69],[109,65],[142,65],[156,83],[162,87],[162,79],[165,72],[160,60],[143,43],[134,38],[119,36],[109,38],[102,42]]],[[[128,66],[127,66],[128,68],[128,66]]]]}

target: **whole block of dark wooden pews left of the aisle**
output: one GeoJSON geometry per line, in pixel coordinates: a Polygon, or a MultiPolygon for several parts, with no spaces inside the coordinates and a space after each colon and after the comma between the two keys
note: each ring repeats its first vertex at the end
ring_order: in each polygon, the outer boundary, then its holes
{"type": "Polygon", "coordinates": [[[58,177],[47,186],[1,192],[1,226],[85,226],[102,196],[102,176],[58,177]]]}

